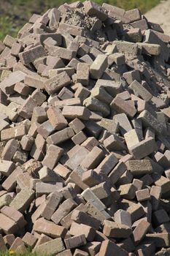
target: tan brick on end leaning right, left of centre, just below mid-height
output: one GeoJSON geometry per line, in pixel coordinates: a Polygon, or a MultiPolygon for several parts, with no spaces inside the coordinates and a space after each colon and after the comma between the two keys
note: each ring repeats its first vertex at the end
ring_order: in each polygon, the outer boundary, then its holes
{"type": "Polygon", "coordinates": [[[45,165],[49,167],[51,170],[55,167],[55,165],[58,163],[59,159],[61,158],[61,155],[63,154],[63,148],[60,148],[55,145],[50,145],[47,149],[47,153],[45,155],[45,158],[42,161],[42,165],[45,165]],[[53,155],[53,159],[51,159],[51,156],[53,155]]]}

